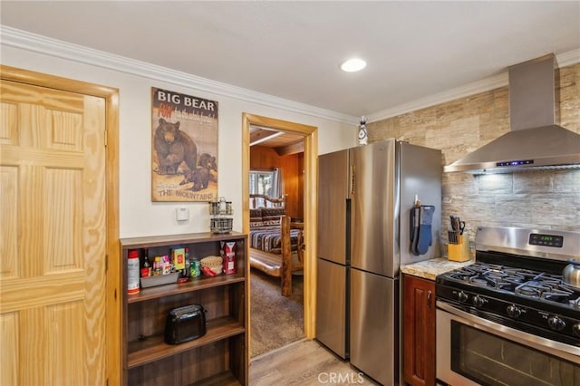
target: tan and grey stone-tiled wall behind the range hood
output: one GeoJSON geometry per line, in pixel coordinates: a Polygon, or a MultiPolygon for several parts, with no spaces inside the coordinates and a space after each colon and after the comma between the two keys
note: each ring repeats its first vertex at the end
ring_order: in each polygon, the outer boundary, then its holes
{"type": "MultiPolygon", "coordinates": [[[[560,124],[580,133],[580,63],[558,71],[560,124]]],[[[506,86],[367,123],[369,142],[396,138],[440,149],[442,167],[509,130],[507,98],[506,86]]],[[[442,228],[449,215],[459,216],[471,238],[478,226],[580,231],[580,169],[444,173],[441,193],[442,228]]],[[[441,241],[447,243],[446,232],[441,241]]]]}

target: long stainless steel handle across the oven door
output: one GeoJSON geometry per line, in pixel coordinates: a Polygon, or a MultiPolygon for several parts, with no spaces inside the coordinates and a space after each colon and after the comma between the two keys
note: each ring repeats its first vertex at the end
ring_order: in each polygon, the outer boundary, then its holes
{"type": "Polygon", "coordinates": [[[511,327],[480,318],[474,314],[466,313],[465,311],[461,311],[458,308],[439,300],[436,304],[437,308],[440,310],[446,311],[449,314],[456,315],[460,318],[461,323],[468,324],[471,327],[488,333],[506,337],[517,343],[524,343],[527,346],[536,348],[542,352],[554,354],[556,351],[558,352],[556,354],[557,356],[565,357],[565,359],[571,362],[580,363],[580,347],[552,341],[551,339],[546,339],[542,336],[533,335],[531,333],[524,333],[523,331],[515,330],[511,327]]]}

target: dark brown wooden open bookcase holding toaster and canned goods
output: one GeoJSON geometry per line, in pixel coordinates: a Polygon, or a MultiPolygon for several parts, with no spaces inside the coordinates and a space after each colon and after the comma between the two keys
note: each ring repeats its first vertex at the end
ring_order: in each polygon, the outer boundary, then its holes
{"type": "Polygon", "coordinates": [[[247,236],[199,233],[121,239],[123,384],[246,385],[248,380],[247,236]],[[219,256],[221,241],[236,241],[237,273],[199,276],[183,284],[141,288],[127,293],[127,256],[148,248],[149,256],[188,246],[190,256],[219,256]],[[164,340],[169,310],[189,304],[205,309],[206,334],[180,344],[164,340]]]}

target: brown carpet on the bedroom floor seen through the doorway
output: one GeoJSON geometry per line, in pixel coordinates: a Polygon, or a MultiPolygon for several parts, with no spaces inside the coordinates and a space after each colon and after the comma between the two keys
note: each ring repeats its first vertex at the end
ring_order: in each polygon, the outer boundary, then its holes
{"type": "Polygon", "coordinates": [[[250,275],[250,357],[304,338],[304,278],[292,277],[292,295],[280,294],[280,278],[252,270],[250,275]]]}

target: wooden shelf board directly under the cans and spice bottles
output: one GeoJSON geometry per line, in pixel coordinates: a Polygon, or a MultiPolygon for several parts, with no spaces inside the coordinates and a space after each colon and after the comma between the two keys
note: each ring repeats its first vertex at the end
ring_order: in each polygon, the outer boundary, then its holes
{"type": "Polygon", "coordinates": [[[176,283],[171,285],[159,285],[157,287],[141,289],[138,294],[128,294],[127,303],[145,302],[151,299],[170,296],[172,294],[184,294],[191,291],[199,291],[206,288],[220,285],[244,282],[246,277],[243,272],[234,275],[199,276],[194,277],[186,283],[176,283]]]}

